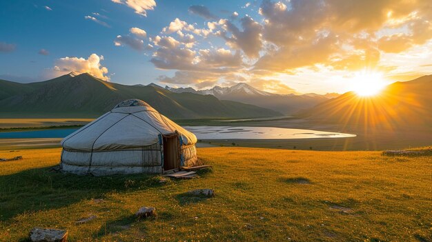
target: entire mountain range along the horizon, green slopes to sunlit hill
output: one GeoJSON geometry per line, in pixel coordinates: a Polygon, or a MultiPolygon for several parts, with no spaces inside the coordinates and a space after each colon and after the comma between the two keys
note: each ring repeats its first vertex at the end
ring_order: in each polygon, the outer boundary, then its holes
{"type": "Polygon", "coordinates": [[[208,90],[122,85],[70,74],[48,81],[0,80],[0,118],[98,117],[125,99],[141,99],[172,119],[278,117],[376,128],[432,128],[432,75],[396,82],[372,97],[274,94],[246,83],[208,90]]]}

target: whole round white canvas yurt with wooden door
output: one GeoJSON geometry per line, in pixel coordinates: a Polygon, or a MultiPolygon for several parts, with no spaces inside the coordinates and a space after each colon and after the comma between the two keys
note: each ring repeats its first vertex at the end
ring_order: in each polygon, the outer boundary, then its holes
{"type": "Polygon", "coordinates": [[[61,170],[75,174],[163,173],[197,161],[195,134],[138,99],[117,104],[61,141],[61,170]]]}

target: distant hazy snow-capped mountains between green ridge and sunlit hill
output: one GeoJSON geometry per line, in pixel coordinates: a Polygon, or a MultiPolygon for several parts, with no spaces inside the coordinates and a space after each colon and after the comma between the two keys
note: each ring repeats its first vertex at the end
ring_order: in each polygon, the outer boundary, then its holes
{"type": "Polygon", "coordinates": [[[337,94],[275,94],[271,92],[264,92],[257,90],[251,85],[246,83],[238,83],[228,88],[221,88],[215,86],[214,88],[207,90],[195,90],[193,88],[170,88],[165,87],[171,92],[190,92],[195,94],[212,94],[221,100],[239,101],[242,103],[248,103],[252,105],[258,105],[263,108],[269,108],[282,112],[283,114],[293,114],[307,108],[312,108],[318,103],[327,101],[337,94]]]}

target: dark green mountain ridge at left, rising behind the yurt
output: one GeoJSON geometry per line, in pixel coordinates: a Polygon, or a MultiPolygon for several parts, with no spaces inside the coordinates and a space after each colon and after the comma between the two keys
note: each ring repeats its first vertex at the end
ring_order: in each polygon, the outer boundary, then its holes
{"type": "Polygon", "coordinates": [[[220,101],[212,95],[175,93],[154,85],[121,85],[70,73],[37,83],[0,81],[0,117],[97,117],[125,99],[141,99],[173,119],[273,117],[279,112],[220,101]]]}

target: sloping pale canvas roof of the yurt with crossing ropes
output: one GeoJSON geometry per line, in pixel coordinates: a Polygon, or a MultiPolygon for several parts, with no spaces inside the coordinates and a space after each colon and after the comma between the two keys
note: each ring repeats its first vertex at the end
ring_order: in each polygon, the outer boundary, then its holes
{"type": "Polygon", "coordinates": [[[88,123],[61,141],[68,150],[125,150],[159,142],[159,134],[179,132],[184,145],[197,142],[195,134],[185,130],[148,103],[129,99],[95,121],[88,123]]]}

